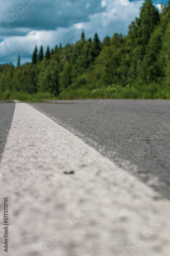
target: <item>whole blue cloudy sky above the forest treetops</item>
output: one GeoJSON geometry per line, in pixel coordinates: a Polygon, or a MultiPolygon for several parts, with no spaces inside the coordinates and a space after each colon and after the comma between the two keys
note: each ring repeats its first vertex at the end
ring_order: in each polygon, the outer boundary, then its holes
{"type": "MultiPolygon", "coordinates": [[[[161,2],[154,0],[160,9],[161,2]]],[[[143,0],[0,0],[0,63],[18,55],[21,63],[31,61],[35,45],[54,48],[74,44],[85,31],[86,39],[97,32],[103,40],[114,33],[127,34],[143,0]]]]}

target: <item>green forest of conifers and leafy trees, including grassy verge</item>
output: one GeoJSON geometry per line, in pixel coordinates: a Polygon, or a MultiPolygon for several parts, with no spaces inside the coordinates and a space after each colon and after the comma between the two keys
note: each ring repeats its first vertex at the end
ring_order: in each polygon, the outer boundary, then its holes
{"type": "Polygon", "coordinates": [[[0,65],[0,99],[170,99],[170,2],[161,12],[147,0],[126,36],[37,49],[32,62],[0,65]]]}

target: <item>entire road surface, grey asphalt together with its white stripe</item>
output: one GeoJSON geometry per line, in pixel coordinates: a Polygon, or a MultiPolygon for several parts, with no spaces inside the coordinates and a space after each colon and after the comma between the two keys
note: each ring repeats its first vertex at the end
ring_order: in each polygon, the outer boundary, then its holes
{"type": "Polygon", "coordinates": [[[169,101],[0,109],[9,255],[169,255],[169,101]]]}

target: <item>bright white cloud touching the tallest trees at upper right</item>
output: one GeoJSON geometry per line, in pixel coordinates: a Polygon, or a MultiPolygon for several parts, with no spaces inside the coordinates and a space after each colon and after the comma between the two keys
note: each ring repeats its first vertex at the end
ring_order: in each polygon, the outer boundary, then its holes
{"type": "Polygon", "coordinates": [[[103,39],[107,34],[127,33],[128,26],[132,20],[139,15],[139,8],[144,1],[128,0],[102,0],[101,5],[105,7],[102,13],[89,15],[89,22],[75,24],[77,29],[83,29],[86,37],[92,37],[94,32],[103,39]]]}

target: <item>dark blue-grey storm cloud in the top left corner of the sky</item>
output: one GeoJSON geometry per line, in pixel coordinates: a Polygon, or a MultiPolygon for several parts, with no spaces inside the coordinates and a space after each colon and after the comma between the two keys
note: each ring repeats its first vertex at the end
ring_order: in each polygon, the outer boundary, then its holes
{"type": "Polygon", "coordinates": [[[27,34],[29,29],[68,28],[87,22],[89,14],[104,10],[99,0],[13,0],[12,3],[0,0],[0,4],[0,35],[4,36],[27,34]]]}

